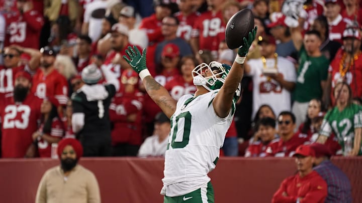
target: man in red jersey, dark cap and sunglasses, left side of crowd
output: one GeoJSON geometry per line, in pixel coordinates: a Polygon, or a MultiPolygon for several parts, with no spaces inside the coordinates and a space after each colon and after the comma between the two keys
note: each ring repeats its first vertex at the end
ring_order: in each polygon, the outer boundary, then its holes
{"type": "Polygon", "coordinates": [[[55,70],[56,52],[50,47],[41,50],[41,68],[33,76],[32,92],[40,98],[55,97],[61,105],[68,101],[68,83],[63,75],[55,70]]]}

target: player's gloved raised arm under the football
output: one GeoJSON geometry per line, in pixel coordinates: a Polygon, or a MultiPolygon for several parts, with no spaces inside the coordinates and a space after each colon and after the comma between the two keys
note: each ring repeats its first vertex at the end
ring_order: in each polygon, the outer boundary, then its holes
{"type": "Polygon", "coordinates": [[[244,43],[238,50],[238,55],[236,56],[231,70],[225,79],[225,83],[213,100],[215,113],[221,118],[225,118],[230,112],[235,91],[237,90],[244,74],[244,60],[249,52],[251,43],[255,39],[256,30],[257,27],[249,32],[248,39],[243,39],[244,43]]]}

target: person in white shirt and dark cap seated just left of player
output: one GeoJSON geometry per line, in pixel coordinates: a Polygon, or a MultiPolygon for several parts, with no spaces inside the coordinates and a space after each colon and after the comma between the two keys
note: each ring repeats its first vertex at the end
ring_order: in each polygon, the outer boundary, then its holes
{"type": "Polygon", "coordinates": [[[170,127],[170,119],[163,112],[158,113],[155,117],[154,133],[145,139],[138,151],[138,157],[164,157],[170,127]]]}

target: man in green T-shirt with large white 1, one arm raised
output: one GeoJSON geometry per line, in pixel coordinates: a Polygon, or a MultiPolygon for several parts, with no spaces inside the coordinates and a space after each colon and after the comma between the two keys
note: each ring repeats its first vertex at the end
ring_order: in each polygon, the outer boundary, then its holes
{"type": "Polygon", "coordinates": [[[292,40],[299,51],[297,83],[293,91],[292,112],[298,127],[306,119],[309,101],[322,99],[328,76],[328,59],[321,53],[322,38],[318,31],[307,31],[302,37],[297,28],[291,29],[292,40]]]}

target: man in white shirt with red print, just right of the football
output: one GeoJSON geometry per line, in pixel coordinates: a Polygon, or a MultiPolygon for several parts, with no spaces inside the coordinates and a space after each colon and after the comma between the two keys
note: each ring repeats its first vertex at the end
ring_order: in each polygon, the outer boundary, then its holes
{"type": "Polygon", "coordinates": [[[276,115],[291,110],[291,91],[297,74],[292,62],[276,54],[276,41],[272,36],[259,38],[261,58],[251,59],[245,73],[253,80],[252,118],[263,104],[270,105],[276,115]]]}

